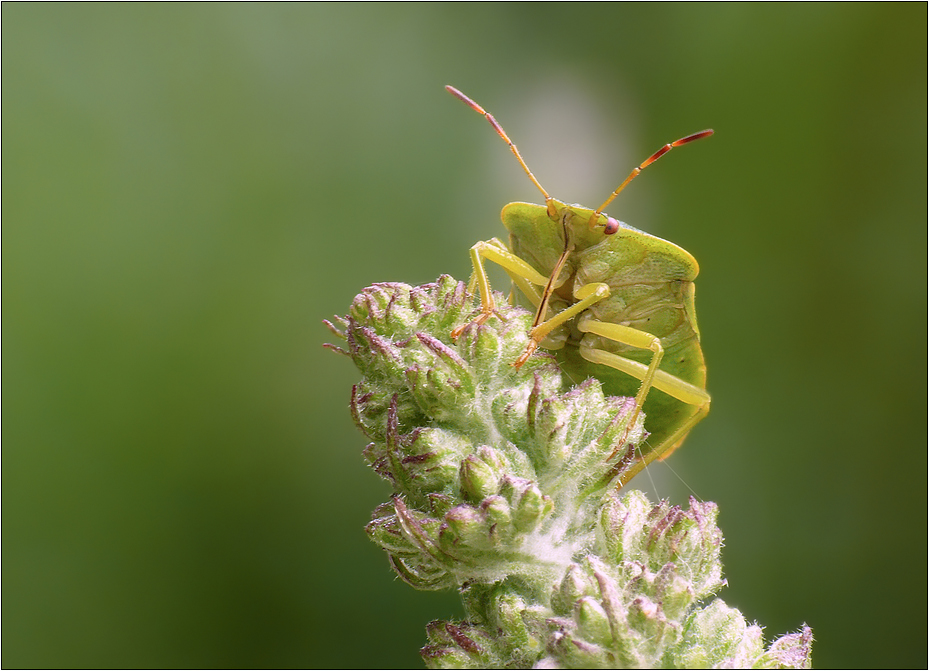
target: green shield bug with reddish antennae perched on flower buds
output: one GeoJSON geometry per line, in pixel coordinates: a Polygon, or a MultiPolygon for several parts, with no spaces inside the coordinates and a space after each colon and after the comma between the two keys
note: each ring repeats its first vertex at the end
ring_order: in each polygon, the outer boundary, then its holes
{"type": "MultiPolygon", "coordinates": [[[[510,203],[503,208],[509,244],[494,238],[471,248],[471,288],[476,283],[481,313],[469,323],[482,324],[494,314],[484,271],[484,261],[493,261],[536,307],[530,344],[515,366],[542,346],[555,350],[569,375],[596,377],[604,393],[635,397],[626,434],[610,458],[624,450],[640,411],[645,413],[649,444],[640,446],[638,455],[627,452],[620,458],[615,472],[622,471],[622,486],[649,462],[680,446],[709,412],[710,396],[694,309],[696,259],[604,210],[664,154],[713,131],[664,145],[633,169],[603,205],[591,210],[549,196],[497,120],[461,91],[445,88],[490,122],[545,197],[544,205],[510,203]]],[[[467,326],[456,328],[452,337],[467,326]]]]}

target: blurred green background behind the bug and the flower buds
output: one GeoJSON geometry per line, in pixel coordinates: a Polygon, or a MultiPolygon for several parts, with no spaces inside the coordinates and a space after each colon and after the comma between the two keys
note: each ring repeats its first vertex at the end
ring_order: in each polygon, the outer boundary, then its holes
{"type": "Polygon", "coordinates": [[[457,596],[364,536],[320,320],[539,201],[445,84],[569,202],[716,129],[610,208],[700,261],[714,399],[634,484],[718,502],[723,598],[815,665],[926,664],[924,3],[2,18],[4,667],[421,666],[457,596]]]}

